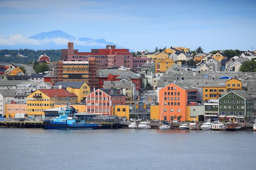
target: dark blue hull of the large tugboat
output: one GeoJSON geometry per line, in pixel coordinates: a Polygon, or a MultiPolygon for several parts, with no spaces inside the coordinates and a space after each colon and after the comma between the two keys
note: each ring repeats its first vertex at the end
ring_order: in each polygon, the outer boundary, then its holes
{"type": "Polygon", "coordinates": [[[68,124],[55,124],[55,123],[44,123],[45,129],[99,129],[100,124],[79,124],[79,125],[68,125],[68,124]]]}

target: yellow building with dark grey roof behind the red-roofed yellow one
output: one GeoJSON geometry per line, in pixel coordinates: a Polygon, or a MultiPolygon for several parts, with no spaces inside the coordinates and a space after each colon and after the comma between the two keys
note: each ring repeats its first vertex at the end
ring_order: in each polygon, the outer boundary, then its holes
{"type": "Polygon", "coordinates": [[[53,88],[64,88],[70,93],[76,94],[78,102],[85,102],[86,96],[90,94],[90,86],[86,82],[56,82],[53,88]]]}

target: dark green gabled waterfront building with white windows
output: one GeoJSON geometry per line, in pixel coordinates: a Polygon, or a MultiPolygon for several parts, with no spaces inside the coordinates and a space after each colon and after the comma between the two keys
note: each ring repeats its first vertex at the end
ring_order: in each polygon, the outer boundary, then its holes
{"type": "Polygon", "coordinates": [[[246,91],[230,91],[218,99],[218,114],[221,119],[247,119],[253,117],[253,96],[246,91]]]}

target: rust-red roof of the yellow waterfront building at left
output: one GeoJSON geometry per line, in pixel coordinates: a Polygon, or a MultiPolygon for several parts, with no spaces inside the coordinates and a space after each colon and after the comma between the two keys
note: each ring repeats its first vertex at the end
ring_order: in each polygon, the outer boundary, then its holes
{"type": "Polygon", "coordinates": [[[54,96],[58,96],[58,97],[66,97],[66,96],[77,97],[76,94],[70,93],[66,89],[40,89],[39,91],[41,91],[42,93],[46,94],[49,97],[54,97],[54,96]]]}

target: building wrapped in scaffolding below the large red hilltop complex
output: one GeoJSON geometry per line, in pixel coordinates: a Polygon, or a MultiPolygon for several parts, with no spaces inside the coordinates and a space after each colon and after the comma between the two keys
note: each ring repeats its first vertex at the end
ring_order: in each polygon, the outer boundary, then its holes
{"type": "Polygon", "coordinates": [[[98,64],[96,58],[87,58],[87,61],[59,61],[52,63],[50,71],[51,83],[58,81],[86,82],[91,88],[98,87],[98,64]]]}

